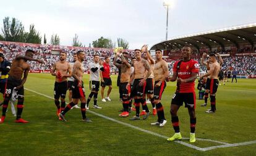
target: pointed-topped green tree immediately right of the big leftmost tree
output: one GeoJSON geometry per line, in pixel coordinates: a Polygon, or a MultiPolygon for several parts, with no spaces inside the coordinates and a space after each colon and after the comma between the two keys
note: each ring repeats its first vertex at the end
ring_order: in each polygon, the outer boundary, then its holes
{"type": "Polygon", "coordinates": [[[35,30],[35,25],[30,25],[29,32],[25,33],[25,42],[41,44],[41,36],[39,31],[35,30]]]}

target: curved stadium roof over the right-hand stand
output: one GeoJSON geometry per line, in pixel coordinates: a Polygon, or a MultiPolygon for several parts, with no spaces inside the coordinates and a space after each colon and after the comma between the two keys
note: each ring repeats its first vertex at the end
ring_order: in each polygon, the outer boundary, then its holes
{"type": "Polygon", "coordinates": [[[222,49],[227,46],[236,46],[239,49],[241,45],[254,47],[256,44],[256,23],[171,38],[156,43],[150,50],[181,49],[186,44],[190,44],[198,51],[202,47],[206,47],[210,51],[216,47],[222,47],[222,49]]]}

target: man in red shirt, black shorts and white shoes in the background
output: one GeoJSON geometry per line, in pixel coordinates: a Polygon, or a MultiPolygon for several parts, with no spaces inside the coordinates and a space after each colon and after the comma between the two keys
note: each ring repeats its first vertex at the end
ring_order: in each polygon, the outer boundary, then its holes
{"type": "Polygon", "coordinates": [[[112,90],[112,81],[110,78],[110,57],[105,57],[105,62],[103,62],[101,67],[101,71],[100,71],[100,76],[101,76],[101,101],[102,102],[106,102],[107,101],[111,101],[111,99],[109,98],[109,94],[112,90]],[[105,87],[108,86],[108,93],[106,98],[104,98],[104,89],[105,87]]]}

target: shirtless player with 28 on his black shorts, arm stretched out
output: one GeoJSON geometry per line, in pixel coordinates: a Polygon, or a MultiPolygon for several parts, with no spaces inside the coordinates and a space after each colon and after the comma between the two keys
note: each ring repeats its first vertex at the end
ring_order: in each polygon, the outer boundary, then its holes
{"type": "Polygon", "coordinates": [[[17,116],[16,123],[28,123],[28,121],[21,118],[24,102],[24,88],[30,70],[30,65],[27,63],[28,60],[39,62],[44,64],[43,60],[33,59],[35,51],[27,50],[25,55],[17,55],[14,60],[12,60],[12,66],[10,69],[10,74],[6,84],[6,91],[4,94],[4,104],[2,105],[2,117],[0,123],[4,122],[6,118],[6,109],[8,103],[11,99],[12,91],[14,88],[17,89],[18,94],[18,104],[17,104],[17,116]]]}

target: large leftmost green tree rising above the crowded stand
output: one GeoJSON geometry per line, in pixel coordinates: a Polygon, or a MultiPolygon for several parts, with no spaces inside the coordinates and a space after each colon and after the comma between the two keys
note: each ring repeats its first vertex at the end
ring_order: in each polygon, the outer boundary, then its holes
{"type": "Polygon", "coordinates": [[[24,42],[25,32],[22,22],[16,18],[10,20],[9,17],[5,17],[3,19],[2,36],[5,41],[24,42]]]}

